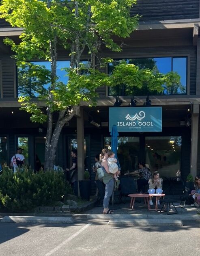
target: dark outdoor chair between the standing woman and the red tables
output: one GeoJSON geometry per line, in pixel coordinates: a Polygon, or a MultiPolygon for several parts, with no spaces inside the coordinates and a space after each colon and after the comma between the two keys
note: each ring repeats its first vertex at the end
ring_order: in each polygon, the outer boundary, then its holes
{"type": "Polygon", "coordinates": [[[137,193],[135,180],[132,177],[121,176],[120,185],[121,185],[121,197],[124,196],[123,203],[125,204],[127,195],[137,193]]]}

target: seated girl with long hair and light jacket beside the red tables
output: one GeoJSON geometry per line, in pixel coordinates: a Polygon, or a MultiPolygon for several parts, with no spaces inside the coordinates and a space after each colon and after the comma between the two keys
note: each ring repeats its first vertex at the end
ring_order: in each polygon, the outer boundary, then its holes
{"type": "MultiPolygon", "coordinates": [[[[159,178],[159,172],[155,171],[152,176],[151,179],[149,180],[149,189],[147,191],[149,194],[161,194],[163,193],[162,190],[162,179],[159,178]]],[[[152,196],[150,197],[150,205],[153,205],[152,202],[152,196]]],[[[160,204],[160,197],[158,197],[158,204],[160,204]]]]}

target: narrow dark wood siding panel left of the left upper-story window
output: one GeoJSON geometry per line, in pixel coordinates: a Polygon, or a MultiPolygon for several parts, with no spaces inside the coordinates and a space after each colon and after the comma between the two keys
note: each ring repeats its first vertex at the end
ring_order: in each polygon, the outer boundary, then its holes
{"type": "Polygon", "coordinates": [[[2,91],[3,98],[15,97],[15,61],[12,59],[2,60],[2,91]]]}

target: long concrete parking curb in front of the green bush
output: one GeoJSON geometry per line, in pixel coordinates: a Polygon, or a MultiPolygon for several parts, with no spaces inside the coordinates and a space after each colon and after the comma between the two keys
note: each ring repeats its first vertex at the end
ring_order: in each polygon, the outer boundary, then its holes
{"type": "Polygon", "coordinates": [[[14,223],[74,223],[72,217],[5,216],[0,222],[14,223]]]}

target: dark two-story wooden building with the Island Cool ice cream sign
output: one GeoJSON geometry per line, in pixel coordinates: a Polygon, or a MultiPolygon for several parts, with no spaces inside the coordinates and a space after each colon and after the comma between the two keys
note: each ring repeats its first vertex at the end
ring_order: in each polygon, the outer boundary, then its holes
{"type": "MultiPolygon", "coordinates": [[[[138,6],[131,9],[131,15],[142,15],[139,26],[130,38],[123,39],[122,52],[113,53],[102,48],[101,57],[114,59],[102,72],[109,74],[114,65],[125,60],[161,73],[176,71],[181,76],[181,83],[170,90],[165,89],[161,94],[150,92],[146,87],[135,90],[135,104],[133,98],[131,101],[129,89],[124,86],[114,89],[99,87],[97,106],[89,108],[86,103],[81,104],[80,117],[73,117],[63,128],[56,165],[69,167],[70,151],[77,148],[79,140],[84,137],[82,156],[85,168],[90,171],[95,155],[110,146],[110,130],[117,121],[118,159],[122,173],[138,169],[139,161],[148,163],[152,171],[159,170],[161,176],[176,176],[180,170],[181,177],[186,180],[189,172],[193,177],[200,173],[199,9],[199,0],[167,3],[138,0],[138,6]],[[151,106],[144,105],[147,93],[151,106]],[[122,101],[118,107],[114,107],[116,94],[117,101],[122,101]],[[124,117],[129,114],[128,121],[119,118],[122,110],[125,111],[124,117]]],[[[19,110],[17,96],[24,88],[20,86],[16,63],[10,57],[12,52],[2,42],[6,36],[17,39],[21,32],[19,28],[11,28],[3,20],[0,21],[0,162],[9,164],[17,146],[21,146],[25,149],[26,162],[35,168],[36,154],[44,163],[46,126],[32,123],[28,113],[19,110]]],[[[118,38],[114,40],[121,41],[118,38]]],[[[61,72],[69,59],[64,51],[59,54],[58,71],[61,72]]],[[[87,58],[85,56],[83,61],[87,58]]],[[[47,62],[43,64],[48,65],[47,62]]],[[[61,73],[60,77],[64,77],[61,73]]],[[[31,84],[28,89],[31,95],[31,84]]]]}

